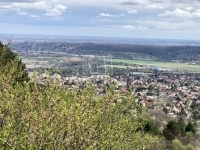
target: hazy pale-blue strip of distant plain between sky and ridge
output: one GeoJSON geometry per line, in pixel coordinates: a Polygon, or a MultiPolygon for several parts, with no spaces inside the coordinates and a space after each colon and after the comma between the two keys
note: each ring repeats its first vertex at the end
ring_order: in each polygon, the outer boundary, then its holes
{"type": "Polygon", "coordinates": [[[7,43],[19,42],[74,42],[74,43],[110,43],[136,45],[185,45],[200,46],[200,40],[187,39],[155,39],[131,37],[103,37],[103,36],[67,36],[67,35],[31,35],[31,34],[1,34],[0,41],[7,43]]]}

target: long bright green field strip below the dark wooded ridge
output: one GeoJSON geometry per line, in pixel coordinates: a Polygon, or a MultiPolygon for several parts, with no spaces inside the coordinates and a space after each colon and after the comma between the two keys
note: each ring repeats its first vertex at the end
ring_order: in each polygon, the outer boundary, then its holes
{"type": "MultiPolygon", "coordinates": [[[[111,61],[111,59],[107,59],[107,61],[111,61]]],[[[184,63],[176,63],[176,62],[159,62],[152,60],[127,60],[127,59],[112,59],[112,62],[123,62],[129,64],[138,64],[138,65],[147,65],[147,66],[155,66],[155,67],[165,67],[179,70],[188,70],[188,71],[200,71],[200,66],[198,65],[188,65],[184,63]]]]}

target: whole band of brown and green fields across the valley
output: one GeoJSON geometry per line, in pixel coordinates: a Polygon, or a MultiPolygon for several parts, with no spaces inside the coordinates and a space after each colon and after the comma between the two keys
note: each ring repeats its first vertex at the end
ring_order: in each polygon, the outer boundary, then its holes
{"type": "Polygon", "coordinates": [[[159,62],[153,60],[128,60],[128,59],[110,59],[106,58],[106,64],[103,64],[102,58],[89,58],[87,61],[84,60],[84,57],[79,56],[20,56],[22,61],[26,64],[26,68],[57,68],[57,67],[66,67],[68,64],[79,63],[87,65],[88,60],[90,63],[95,64],[99,61],[99,67],[110,66],[112,68],[127,68],[127,64],[133,65],[143,65],[143,66],[153,66],[153,67],[162,67],[168,69],[178,69],[179,71],[192,71],[192,72],[200,72],[199,65],[189,65],[184,63],[176,63],[176,62],[159,62]],[[99,60],[98,60],[99,59],[99,60]],[[85,61],[85,62],[84,62],[85,61]],[[100,63],[101,61],[101,63],[100,63]],[[110,63],[108,63],[110,62],[110,63]],[[113,64],[112,64],[112,63],[113,64]],[[116,62],[118,64],[116,64],[116,62]]]}

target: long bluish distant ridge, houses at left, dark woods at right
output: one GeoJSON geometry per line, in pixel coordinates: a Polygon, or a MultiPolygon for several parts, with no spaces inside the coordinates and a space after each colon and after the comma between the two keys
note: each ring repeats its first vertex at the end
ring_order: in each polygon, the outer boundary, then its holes
{"type": "Polygon", "coordinates": [[[112,55],[123,59],[154,59],[158,61],[199,61],[200,46],[148,45],[110,43],[21,42],[11,47],[20,52],[50,51],[78,55],[112,55]]]}

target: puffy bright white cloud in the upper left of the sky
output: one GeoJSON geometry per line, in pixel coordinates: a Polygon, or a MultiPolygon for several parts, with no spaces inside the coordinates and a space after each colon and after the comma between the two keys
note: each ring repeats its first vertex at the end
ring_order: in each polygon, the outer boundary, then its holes
{"type": "Polygon", "coordinates": [[[61,16],[66,9],[66,6],[58,4],[55,7],[48,9],[47,13],[44,15],[52,17],[61,16]]]}

